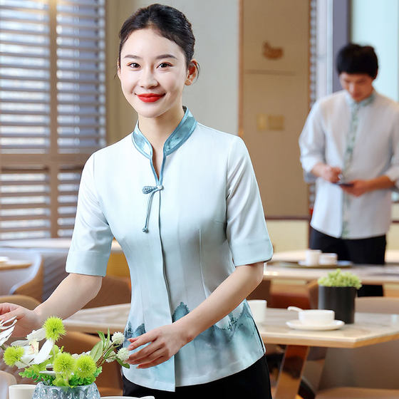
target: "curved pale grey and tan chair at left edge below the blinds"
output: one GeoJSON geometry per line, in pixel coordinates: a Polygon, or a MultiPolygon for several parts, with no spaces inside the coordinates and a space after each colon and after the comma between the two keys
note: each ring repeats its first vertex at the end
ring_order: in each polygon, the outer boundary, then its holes
{"type": "Polygon", "coordinates": [[[21,294],[41,301],[43,296],[43,261],[30,249],[0,248],[0,256],[26,260],[31,266],[0,271],[0,294],[21,294]]]}

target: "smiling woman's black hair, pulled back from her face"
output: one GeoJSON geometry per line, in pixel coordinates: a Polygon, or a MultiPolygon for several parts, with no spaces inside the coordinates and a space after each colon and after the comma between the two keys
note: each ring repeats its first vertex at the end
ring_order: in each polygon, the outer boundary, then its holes
{"type": "Polygon", "coordinates": [[[185,54],[187,68],[190,66],[190,61],[194,56],[195,44],[190,21],[181,11],[162,4],[151,4],[138,9],[120,28],[118,66],[120,66],[120,52],[130,33],[144,28],[153,28],[160,33],[160,36],[174,41],[185,54]]]}

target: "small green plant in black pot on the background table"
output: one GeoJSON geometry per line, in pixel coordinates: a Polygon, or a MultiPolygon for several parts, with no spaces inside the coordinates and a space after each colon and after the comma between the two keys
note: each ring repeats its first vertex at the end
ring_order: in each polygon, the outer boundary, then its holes
{"type": "Polygon", "coordinates": [[[318,279],[318,309],[335,311],[336,320],[355,321],[355,298],[361,280],[349,271],[336,269],[318,279]]]}

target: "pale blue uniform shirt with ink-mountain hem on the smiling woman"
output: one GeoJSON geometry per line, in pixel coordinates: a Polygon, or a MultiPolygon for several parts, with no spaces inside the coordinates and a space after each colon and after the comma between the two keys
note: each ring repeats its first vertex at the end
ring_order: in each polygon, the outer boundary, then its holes
{"type": "MultiPolygon", "coordinates": [[[[82,174],[66,270],[104,276],[113,237],[133,288],[126,338],[185,316],[235,266],[271,259],[244,142],[200,125],[186,110],[165,142],[159,180],[152,147],[138,126],[95,152],[82,174]]],[[[244,301],[165,363],[123,373],[138,385],[175,390],[242,371],[263,354],[244,301]]]]}

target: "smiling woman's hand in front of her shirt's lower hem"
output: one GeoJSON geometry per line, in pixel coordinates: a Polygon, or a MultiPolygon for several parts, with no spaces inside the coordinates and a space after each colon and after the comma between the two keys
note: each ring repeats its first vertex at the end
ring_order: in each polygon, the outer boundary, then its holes
{"type": "Polygon", "coordinates": [[[128,346],[129,351],[147,343],[148,345],[130,355],[126,363],[137,364],[138,368],[149,368],[170,359],[189,340],[182,328],[172,323],[154,328],[136,338],[129,338],[129,341],[131,342],[128,346]]]}

